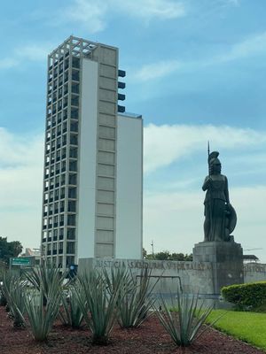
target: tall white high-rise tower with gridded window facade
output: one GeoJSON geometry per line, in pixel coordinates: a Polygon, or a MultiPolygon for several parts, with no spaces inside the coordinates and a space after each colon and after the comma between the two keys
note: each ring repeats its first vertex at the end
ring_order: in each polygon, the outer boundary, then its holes
{"type": "Polygon", "coordinates": [[[48,57],[42,253],[142,258],[142,117],[124,113],[118,49],[70,36],[48,57]]]}

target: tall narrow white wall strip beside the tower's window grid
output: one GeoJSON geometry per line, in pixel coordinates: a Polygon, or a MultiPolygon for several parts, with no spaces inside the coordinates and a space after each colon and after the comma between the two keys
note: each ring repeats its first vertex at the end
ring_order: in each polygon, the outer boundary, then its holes
{"type": "Polygon", "coordinates": [[[82,59],[77,258],[94,257],[98,63],[82,59]]]}

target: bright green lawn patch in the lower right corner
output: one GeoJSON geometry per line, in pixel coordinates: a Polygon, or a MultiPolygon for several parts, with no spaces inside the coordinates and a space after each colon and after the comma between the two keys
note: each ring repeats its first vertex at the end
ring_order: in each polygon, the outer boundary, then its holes
{"type": "Polygon", "coordinates": [[[207,318],[214,327],[243,342],[266,350],[266,313],[214,310],[207,318]]]}

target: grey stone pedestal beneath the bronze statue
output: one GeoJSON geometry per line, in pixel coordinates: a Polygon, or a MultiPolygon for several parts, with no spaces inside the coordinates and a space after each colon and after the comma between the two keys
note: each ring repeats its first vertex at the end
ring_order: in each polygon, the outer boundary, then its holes
{"type": "Polygon", "coordinates": [[[214,295],[219,295],[224,286],[243,283],[243,250],[239,243],[196,243],[193,248],[193,261],[211,263],[214,295]]]}

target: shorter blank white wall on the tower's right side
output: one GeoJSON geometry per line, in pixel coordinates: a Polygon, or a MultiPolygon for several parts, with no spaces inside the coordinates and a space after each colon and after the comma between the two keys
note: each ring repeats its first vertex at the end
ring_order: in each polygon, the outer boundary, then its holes
{"type": "Polygon", "coordinates": [[[115,258],[142,258],[143,121],[117,118],[115,258]]]}

